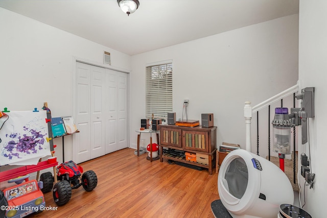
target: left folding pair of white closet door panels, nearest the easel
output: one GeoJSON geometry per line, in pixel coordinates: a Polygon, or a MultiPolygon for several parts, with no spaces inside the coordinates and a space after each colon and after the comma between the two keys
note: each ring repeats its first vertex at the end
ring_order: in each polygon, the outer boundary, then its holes
{"type": "Polygon", "coordinates": [[[105,68],[76,63],[76,117],[73,158],[77,163],[105,154],[105,68]]]}

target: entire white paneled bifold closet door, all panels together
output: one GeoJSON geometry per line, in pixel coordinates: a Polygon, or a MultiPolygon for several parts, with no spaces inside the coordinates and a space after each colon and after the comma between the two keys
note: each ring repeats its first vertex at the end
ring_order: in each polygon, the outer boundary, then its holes
{"type": "Polygon", "coordinates": [[[128,147],[128,74],[76,62],[73,160],[81,163],[128,147]]]}

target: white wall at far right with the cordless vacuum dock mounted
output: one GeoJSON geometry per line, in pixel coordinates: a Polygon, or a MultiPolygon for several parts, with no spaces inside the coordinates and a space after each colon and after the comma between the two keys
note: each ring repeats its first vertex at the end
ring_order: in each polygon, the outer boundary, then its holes
{"type": "MultiPolygon", "coordinates": [[[[327,2],[325,0],[302,1],[299,10],[299,80],[302,88],[315,87],[315,117],[309,120],[309,143],[299,147],[299,154],[310,154],[312,173],[316,175],[312,189],[305,187],[301,204],[312,217],[324,217],[327,196],[327,2]]],[[[300,180],[303,189],[303,178],[300,180]]]]}

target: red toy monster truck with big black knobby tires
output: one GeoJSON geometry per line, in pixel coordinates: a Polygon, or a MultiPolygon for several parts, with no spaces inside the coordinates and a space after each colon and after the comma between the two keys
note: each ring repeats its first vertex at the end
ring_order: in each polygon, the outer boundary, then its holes
{"type": "Polygon", "coordinates": [[[91,191],[98,184],[94,171],[86,171],[74,161],[67,161],[57,166],[57,178],[60,180],[53,187],[53,198],[58,206],[66,204],[72,197],[72,189],[83,186],[86,191],[91,191]]]}

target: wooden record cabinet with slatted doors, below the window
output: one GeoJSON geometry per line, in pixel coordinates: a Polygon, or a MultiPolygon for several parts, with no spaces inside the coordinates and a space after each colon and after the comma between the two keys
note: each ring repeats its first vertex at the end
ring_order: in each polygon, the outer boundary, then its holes
{"type": "Polygon", "coordinates": [[[160,162],[163,162],[164,159],[170,159],[201,166],[208,168],[209,174],[212,175],[212,168],[213,165],[215,165],[213,162],[217,150],[217,127],[180,127],[162,124],[159,125],[158,128],[160,131],[160,162]],[[164,147],[178,151],[196,153],[200,158],[207,156],[208,160],[201,162],[188,161],[179,156],[163,153],[162,150],[164,147]]]}

